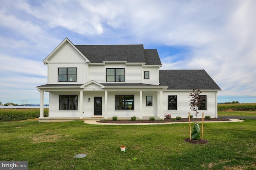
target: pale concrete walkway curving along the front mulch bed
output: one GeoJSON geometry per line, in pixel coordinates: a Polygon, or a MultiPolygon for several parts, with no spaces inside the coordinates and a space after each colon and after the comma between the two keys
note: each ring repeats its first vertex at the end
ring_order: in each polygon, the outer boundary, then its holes
{"type": "MultiPolygon", "coordinates": [[[[230,121],[205,121],[204,123],[228,123],[228,122],[243,122],[239,119],[229,119],[230,121]]],[[[164,124],[176,124],[176,123],[188,123],[188,122],[168,122],[168,123],[99,123],[100,120],[85,120],[84,123],[91,125],[164,125],[164,124]]],[[[194,123],[194,122],[191,122],[194,123]]],[[[198,122],[202,123],[202,122],[198,122]]]]}

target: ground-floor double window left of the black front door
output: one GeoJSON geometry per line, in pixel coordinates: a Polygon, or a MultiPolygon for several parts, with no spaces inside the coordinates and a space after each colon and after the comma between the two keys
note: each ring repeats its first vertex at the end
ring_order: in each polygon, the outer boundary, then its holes
{"type": "Polygon", "coordinates": [[[60,95],[60,110],[77,110],[77,95],[60,95]]]}

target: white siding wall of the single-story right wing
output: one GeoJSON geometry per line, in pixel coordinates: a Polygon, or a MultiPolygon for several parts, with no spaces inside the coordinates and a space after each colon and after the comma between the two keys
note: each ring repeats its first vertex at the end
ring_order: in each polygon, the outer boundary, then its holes
{"type": "MultiPolygon", "coordinates": [[[[195,118],[195,112],[190,110],[190,99],[189,94],[192,91],[164,91],[163,92],[163,114],[171,114],[172,118],[177,116],[182,118],[188,118],[188,112],[190,115],[193,115],[195,118]],[[168,110],[168,96],[176,95],[177,96],[177,110],[168,110]]],[[[206,95],[206,110],[199,110],[198,118],[202,118],[202,113],[204,116],[208,115],[212,118],[216,118],[216,91],[202,91],[201,95],[206,95]]]]}

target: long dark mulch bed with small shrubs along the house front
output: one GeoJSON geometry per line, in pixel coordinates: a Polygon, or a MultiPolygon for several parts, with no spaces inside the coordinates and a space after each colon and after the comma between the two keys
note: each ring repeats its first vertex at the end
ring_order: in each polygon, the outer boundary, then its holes
{"type": "MultiPolygon", "coordinates": [[[[196,119],[190,119],[191,122],[195,122],[196,119]]],[[[197,119],[197,121],[200,123],[202,122],[202,119],[197,119]]],[[[229,119],[219,119],[219,118],[212,118],[212,119],[204,119],[204,122],[207,121],[230,121],[229,119]]],[[[112,121],[112,120],[104,120],[104,121],[97,121],[100,123],[168,123],[168,122],[188,122],[188,118],[182,118],[181,120],[174,120],[174,119],[164,119],[164,120],[155,120],[155,121],[150,121],[150,120],[117,120],[117,121],[112,121]]]]}

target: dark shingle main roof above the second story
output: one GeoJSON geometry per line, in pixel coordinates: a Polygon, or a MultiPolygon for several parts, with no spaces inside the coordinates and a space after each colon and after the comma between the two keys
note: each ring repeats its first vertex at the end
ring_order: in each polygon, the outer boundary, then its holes
{"type": "Polygon", "coordinates": [[[154,50],[144,50],[143,45],[75,45],[91,63],[102,61],[126,61],[161,65],[159,55],[154,50]],[[145,51],[145,52],[144,52],[145,51]]]}

